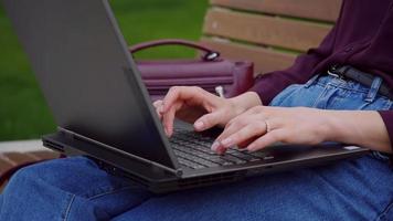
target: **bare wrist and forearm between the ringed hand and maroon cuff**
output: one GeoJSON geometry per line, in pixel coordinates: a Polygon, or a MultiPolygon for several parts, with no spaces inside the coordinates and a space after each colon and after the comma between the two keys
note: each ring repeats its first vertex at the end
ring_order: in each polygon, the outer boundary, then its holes
{"type": "Polygon", "coordinates": [[[327,116],[326,139],[392,152],[389,134],[381,115],[372,110],[323,110],[327,116]]]}

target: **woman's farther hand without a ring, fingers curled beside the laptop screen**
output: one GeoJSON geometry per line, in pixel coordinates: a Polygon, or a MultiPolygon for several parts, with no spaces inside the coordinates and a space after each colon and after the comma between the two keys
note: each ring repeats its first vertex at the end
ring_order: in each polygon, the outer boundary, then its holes
{"type": "Polygon", "coordinates": [[[173,134],[176,117],[202,131],[214,126],[224,127],[232,118],[257,105],[262,103],[255,92],[222,98],[197,86],[173,86],[162,101],[153,103],[168,137],[173,134]]]}

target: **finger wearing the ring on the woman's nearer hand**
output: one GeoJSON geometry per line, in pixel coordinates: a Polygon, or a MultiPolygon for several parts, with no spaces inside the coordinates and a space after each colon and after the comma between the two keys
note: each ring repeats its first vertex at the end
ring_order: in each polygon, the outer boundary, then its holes
{"type": "Polygon", "coordinates": [[[254,122],[235,131],[227,138],[221,140],[224,148],[230,148],[234,145],[242,144],[253,137],[258,137],[266,134],[266,124],[264,120],[254,122]]]}

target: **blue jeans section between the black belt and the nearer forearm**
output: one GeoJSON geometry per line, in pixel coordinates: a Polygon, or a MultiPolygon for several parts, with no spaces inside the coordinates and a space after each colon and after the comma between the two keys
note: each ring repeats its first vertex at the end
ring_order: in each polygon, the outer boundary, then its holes
{"type": "Polygon", "coordinates": [[[315,107],[320,109],[392,109],[393,102],[376,95],[368,101],[370,88],[332,76],[316,76],[306,84],[294,84],[279,93],[270,106],[315,107]]]}

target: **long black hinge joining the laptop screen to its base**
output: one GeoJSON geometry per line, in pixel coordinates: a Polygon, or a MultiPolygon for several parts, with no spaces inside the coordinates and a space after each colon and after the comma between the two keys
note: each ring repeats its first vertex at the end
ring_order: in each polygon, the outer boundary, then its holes
{"type": "Polygon", "coordinates": [[[181,176],[183,175],[183,170],[182,170],[181,168],[173,169],[173,168],[167,167],[167,166],[161,165],[161,164],[159,164],[159,162],[145,159],[145,158],[142,158],[142,157],[132,155],[132,154],[130,154],[130,152],[123,151],[123,150],[117,149],[117,148],[115,148],[115,147],[111,147],[111,146],[109,146],[109,145],[106,145],[106,144],[99,143],[99,141],[97,141],[97,140],[91,139],[91,138],[88,138],[88,137],[85,137],[85,136],[83,136],[83,135],[76,134],[76,133],[71,131],[71,130],[68,130],[68,129],[65,129],[65,128],[63,128],[63,127],[57,127],[57,130],[59,130],[60,133],[62,133],[66,138],[79,139],[79,140],[83,140],[83,141],[87,141],[87,143],[94,144],[94,145],[98,145],[98,146],[104,147],[104,148],[106,148],[106,149],[109,149],[109,150],[113,150],[113,151],[116,151],[116,152],[126,155],[127,157],[130,157],[130,158],[132,158],[132,159],[135,159],[135,160],[145,162],[145,164],[148,164],[148,165],[151,165],[151,166],[156,166],[156,167],[158,167],[158,168],[160,168],[160,169],[163,169],[163,170],[166,170],[166,171],[169,171],[169,172],[171,172],[171,173],[174,173],[177,177],[181,177],[181,176]]]}

